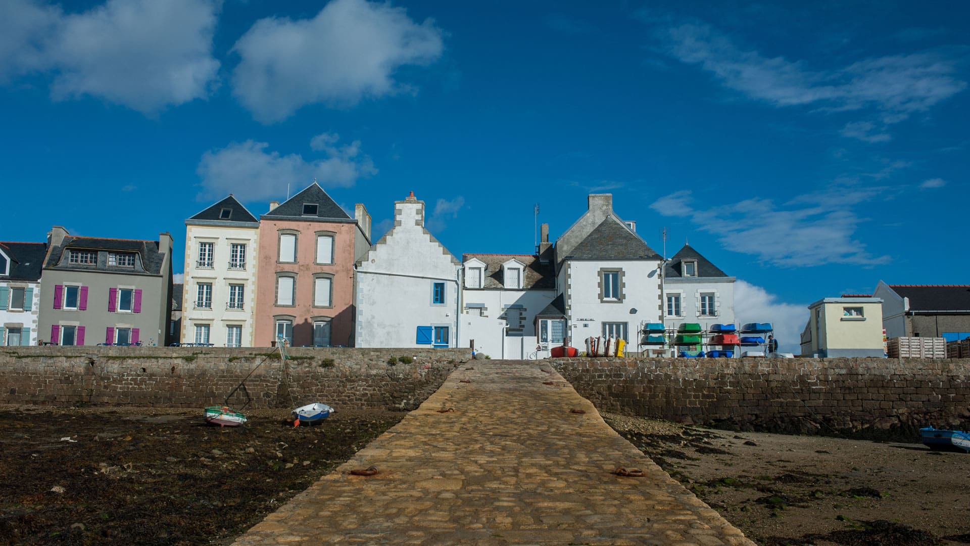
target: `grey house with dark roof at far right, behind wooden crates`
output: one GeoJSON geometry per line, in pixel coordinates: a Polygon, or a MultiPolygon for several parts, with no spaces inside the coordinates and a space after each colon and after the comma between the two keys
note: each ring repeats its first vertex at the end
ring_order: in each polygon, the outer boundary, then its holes
{"type": "Polygon", "coordinates": [[[883,327],[889,338],[970,337],[970,285],[888,285],[872,294],[883,300],[883,327]]]}

